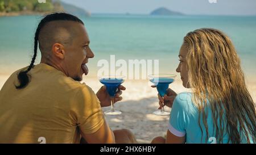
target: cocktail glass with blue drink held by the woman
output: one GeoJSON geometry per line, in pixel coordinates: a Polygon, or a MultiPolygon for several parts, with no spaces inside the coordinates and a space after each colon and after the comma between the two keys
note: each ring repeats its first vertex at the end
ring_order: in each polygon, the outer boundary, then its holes
{"type": "MultiPolygon", "coordinates": [[[[174,74],[152,74],[148,76],[150,82],[154,83],[158,93],[161,97],[166,95],[169,85],[174,82],[176,75],[174,74]]],[[[160,110],[153,112],[155,115],[166,116],[170,115],[170,112],[164,111],[164,107],[160,110]]]]}

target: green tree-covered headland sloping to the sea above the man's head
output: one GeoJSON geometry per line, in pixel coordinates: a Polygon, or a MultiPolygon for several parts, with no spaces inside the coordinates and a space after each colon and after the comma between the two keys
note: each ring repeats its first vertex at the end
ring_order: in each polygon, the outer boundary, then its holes
{"type": "Polygon", "coordinates": [[[51,12],[68,12],[76,16],[90,16],[90,12],[59,0],[0,0],[0,16],[43,15],[51,12]]]}

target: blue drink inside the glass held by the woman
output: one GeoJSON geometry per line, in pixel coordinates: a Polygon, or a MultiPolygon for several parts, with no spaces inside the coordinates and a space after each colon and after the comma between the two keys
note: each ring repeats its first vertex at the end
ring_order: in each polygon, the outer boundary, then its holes
{"type": "Polygon", "coordinates": [[[156,85],[158,93],[163,97],[167,93],[169,85],[174,82],[173,78],[152,78],[150,79],[152,83],[156,85]]]}

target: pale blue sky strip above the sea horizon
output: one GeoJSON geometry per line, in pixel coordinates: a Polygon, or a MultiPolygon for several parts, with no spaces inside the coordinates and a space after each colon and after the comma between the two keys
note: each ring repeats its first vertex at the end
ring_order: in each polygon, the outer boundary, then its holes
{"type": "Polygon", "coordinates": [[[166,7],[188,15],[256,15],[255,0],[61,0],[92,13],[150,14],[166,7]],[[217,3],[210,3],[216,1],[217,3]]]}

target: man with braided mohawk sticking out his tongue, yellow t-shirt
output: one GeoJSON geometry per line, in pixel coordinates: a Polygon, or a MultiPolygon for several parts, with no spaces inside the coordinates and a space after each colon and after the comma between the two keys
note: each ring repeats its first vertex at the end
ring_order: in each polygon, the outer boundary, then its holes
{"type": "MultiPolygon", "coordinates": [[[[110,105],[106,88],[97,94],[85,83],[89,47],[84,23],[55,13],[41,20],[30,66],[7,79],[0,91],[0,143],[135,143],[127,129],[112,132],[101,107],[110,105]],[[34,66],[38,43],[42,59],[34,66]],[[82,139],[81,139],[82,137],[82,139]]],[[[125,87],[119,86],[115,102],[125,87]]]]}

